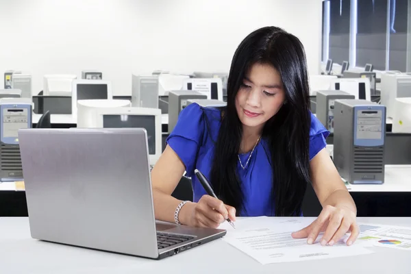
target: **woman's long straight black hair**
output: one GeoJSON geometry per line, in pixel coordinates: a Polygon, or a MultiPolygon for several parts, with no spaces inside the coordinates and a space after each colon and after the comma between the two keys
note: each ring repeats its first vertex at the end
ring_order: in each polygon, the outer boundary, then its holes
{"type": "Polygon", "coordinates": [[[277,69],[286,94],[286,103],[262,129],[273,170],[271,195],[275,215],[298,216],[310,182],[310,90],[303,45],[279,27],[257,29],[242,40],[234,53],[227,81],[227,106],[221,110],[221,128],[214,145],[210,179],[219,199],[234,206],[237,214],[245,210],[237,173],[242,123],[235,101],[247,71],[257,63],[277,69]]]}

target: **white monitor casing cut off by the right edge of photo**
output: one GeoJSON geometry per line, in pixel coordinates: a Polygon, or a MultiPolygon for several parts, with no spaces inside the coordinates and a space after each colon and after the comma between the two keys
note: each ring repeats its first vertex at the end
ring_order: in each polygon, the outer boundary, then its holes
{"type": "Polygon", "coordinates": [[[395,99],[392,131],[411,133],[411,97],[395,99]]]}

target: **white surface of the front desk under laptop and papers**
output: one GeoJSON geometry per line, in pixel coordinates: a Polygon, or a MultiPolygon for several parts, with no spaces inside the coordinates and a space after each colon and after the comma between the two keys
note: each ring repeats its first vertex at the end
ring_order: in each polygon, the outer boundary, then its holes
{"type": "MultiPolygon", "coordinates": [[[[411,227],[410,218],[358,221],[411,227]]],[[[34,240],[27,218],[0,218],[0,246],[1,273],[411,273],[409,251],[383,247],[364,256],[262,265],[219,239],[150,260],[34,240]]]]}

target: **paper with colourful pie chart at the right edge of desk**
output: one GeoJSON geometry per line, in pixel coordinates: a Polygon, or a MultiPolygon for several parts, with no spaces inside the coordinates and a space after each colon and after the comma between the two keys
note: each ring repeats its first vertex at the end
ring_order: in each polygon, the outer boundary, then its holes
{"type": "Polygon", "coordinates": [[[411,227],[360,224],[358,243],[364,247],[388,247],[411,251],[411,227]]]}

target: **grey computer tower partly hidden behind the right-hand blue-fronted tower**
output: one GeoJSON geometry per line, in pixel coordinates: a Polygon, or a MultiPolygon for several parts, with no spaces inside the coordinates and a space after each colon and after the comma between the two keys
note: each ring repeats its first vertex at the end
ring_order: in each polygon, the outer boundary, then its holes
{"type": "Polygon", "coordinates": [[[343,90],[321,90],[316,92],[316,117],[331,133],[334,133],[334,103],[337,99],[355,99],[343,90]]]}

